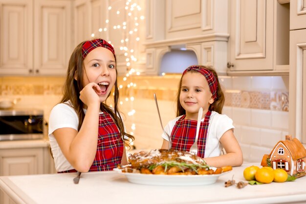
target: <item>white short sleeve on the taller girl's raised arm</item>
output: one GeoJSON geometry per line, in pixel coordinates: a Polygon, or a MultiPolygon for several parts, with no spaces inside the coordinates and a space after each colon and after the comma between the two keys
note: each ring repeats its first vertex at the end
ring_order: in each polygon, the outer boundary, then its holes
{"type": "Polygon", "coordinates": [[[65,103],[53,107],[49,117],[48,135],[59,128],[73,128],[78,130],[79,117],[74,109],[65,103]]]}

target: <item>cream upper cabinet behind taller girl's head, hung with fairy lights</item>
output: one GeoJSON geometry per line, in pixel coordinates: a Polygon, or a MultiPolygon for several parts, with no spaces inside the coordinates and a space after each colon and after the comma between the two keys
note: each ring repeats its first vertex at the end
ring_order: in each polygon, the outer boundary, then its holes
{"type": "Polygon", "coordinates": [[[113,45],[117,72],[144,67],[144,0],[75,0],[74,46],[91,38],[102,38],[113,45]],[[142,9],[139,9],[142,8],[142,9]]]}

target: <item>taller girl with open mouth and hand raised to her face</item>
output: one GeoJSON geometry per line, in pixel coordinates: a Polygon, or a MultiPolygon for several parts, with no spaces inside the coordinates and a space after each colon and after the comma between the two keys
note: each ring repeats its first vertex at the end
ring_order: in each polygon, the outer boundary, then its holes
{"type": "Polygon", "coordinates": [[[128,163],[118,111],[116,56],[102,39],[85,41],[73,51],[64,96],[50,113],[49,139],[55,168],[63,172],[112,170],[128,163]],[[106,99],[114,91],[114,108],[106,99]]]}

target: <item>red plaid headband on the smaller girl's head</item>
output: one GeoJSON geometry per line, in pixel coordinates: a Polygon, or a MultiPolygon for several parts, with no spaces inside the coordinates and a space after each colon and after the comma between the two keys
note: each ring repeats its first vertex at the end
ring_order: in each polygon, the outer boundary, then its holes
{"type": "Polygon", "coordinates": [[[216,76],[207,68],[203,68],[201,66],[190,66],[189,68],[186,68],[185,71],[183,72],[183,76],[187,71],[194,70],[197,72],[200,72],[203,76],[205,76],[209,89],[213,94],[213,98],[217,98],[217,89],[218,89],[218,82],[216,79],[216,76]]]}

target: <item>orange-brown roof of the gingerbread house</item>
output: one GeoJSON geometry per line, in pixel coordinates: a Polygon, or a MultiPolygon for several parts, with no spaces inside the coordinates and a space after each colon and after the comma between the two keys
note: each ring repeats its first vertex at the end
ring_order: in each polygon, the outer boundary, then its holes
{"type": "MultiPolygon", "coordinates": [[[[297,139],[291,136],[286,136],[285,140],[279,141],[273,148],[273,150],[282,142],[285,147],[290,151],[293,160],[301,159],[306,157],[306,149],[303,144],[297,139]]],[[[273,151],[272,151],[273,152],[273,151]]],[[[272,154],[271,152],[271,154],[272,154]]],[[[270,156],[271,156],[270,154],[270,156]]]]}

